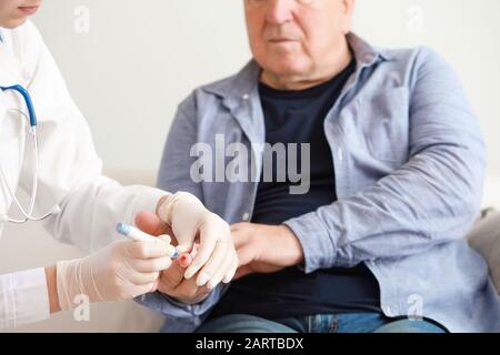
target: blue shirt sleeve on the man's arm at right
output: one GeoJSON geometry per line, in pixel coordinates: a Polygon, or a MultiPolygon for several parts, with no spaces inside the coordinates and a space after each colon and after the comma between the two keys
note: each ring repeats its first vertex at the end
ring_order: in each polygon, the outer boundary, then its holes
{"type": "Polygon", "coordinates": [[[479,211],[486,146],[453,70],[436,52],[416,55],[410,159],[347,199],[287,221],[306,272],[404,257],[464,239],[479,211]]]}

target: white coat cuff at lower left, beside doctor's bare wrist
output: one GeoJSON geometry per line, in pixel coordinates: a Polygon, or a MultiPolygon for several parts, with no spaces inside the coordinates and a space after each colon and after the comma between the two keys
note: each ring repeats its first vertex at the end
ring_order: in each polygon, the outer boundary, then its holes
{"type": "Polygon", "coordinates": [[[50,317],[43,267],[0,276],[0,329],[50,317]]]}

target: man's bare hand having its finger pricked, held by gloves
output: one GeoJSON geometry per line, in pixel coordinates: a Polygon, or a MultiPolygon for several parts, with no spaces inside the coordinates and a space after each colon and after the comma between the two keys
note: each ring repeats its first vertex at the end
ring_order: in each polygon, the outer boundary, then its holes
{"type": "MultiPolygon", "coordinates": [[[[172,245],[177,245],[171,229],[153,213],[139,213],[136,216],[136,225],[150,235],[159,236],[169,234],[172,237],[172,245]]],[[[180,265],[179,260],[173,261],[172,265],[160,274],[160,281],[157,286],[158,291],[186,304],[196,304],[207,298],[216,285],[208,283],[199,287],[196,283],[198,277],[186,280],[184,273],[186,267],[180,265]]]]}

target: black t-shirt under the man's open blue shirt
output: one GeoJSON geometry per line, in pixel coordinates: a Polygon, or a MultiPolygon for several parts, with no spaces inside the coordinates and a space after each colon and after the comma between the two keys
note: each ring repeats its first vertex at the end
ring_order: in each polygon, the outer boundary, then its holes
{"type": "MultiPolygon", "coordinates": [[[[278,225],[337,200],[333,160],[324,135],[324,119],[356,70],[352,61],[340,74],[318,87],[280,91],[259,85],[266,122],[266,142],[310,144],[310,190],[291,194],[291,183],[277,182],[273,160],[272,182],[258,186],[253,223],[278,225]]],[[[301,166],[299,163],[297,166],[301,166]]],[[[300,169],[299,169],[300,171],[300,169]]],[[[252,274],[232,283],[210,317],[252,314],[270,320],[292,316],[380,311],[377,280],[364,264],[353,268],[333,267],[304,274],[289,267],[273,274],[252,274]]]]}

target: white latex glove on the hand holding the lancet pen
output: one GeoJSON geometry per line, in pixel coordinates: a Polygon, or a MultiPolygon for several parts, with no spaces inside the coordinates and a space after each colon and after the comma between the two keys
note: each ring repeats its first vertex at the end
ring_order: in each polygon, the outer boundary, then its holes
{"type": "Polygon", "coordinates": [[[131,300],[154,292],[160,272],[171,265],[167,243],[117,241],[84,258],[59,262],[61,310],[77,306],[78,295],[87,295],[93,303],[131,300]]]}

